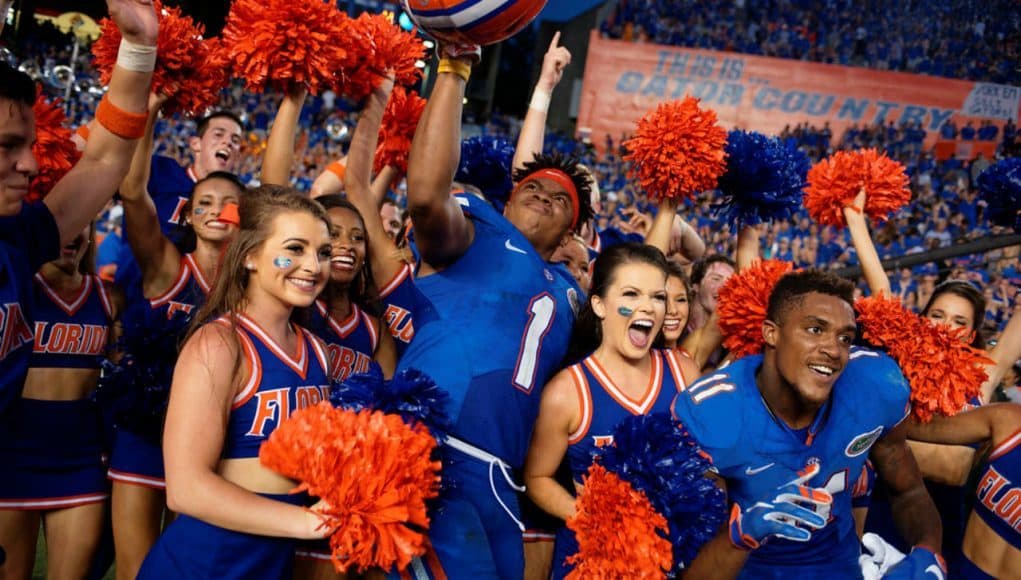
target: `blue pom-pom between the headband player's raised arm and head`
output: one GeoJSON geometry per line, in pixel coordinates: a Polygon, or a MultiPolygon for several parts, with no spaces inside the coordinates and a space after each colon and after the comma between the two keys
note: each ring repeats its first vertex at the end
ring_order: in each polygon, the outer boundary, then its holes
{"type": "Polygon", "coordinates": [[[503,211],[514,182],[514,143],[503,137],[482,135],[460,143],[460,165],[454,181],[479,188],[486,199],[503,211]]]}

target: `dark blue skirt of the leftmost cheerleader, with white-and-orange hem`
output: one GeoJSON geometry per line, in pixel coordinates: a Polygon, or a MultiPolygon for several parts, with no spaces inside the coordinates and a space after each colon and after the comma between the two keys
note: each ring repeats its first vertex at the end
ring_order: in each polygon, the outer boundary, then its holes
{"type": "Polygon", "coordinates": [[[99,409],[89,399],[18,399],[0,421],[0,510],[63,510],[109,496],[99,409]]]}

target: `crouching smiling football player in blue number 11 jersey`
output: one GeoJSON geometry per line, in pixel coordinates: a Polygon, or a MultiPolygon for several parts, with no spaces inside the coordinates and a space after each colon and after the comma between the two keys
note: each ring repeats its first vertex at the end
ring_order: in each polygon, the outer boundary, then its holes
{"type": "Polygon", "coordinates": [[[945,577],[939,518],[906,439],[908,384],[888,356],[852,348],[853,292],[817,270],[784,276],[769,298],[764,353],[678,395],[675,416],[733,503],[692,577],[860,578],[852,492],[869,457],[914,546],[888,577],[945,577]]]}

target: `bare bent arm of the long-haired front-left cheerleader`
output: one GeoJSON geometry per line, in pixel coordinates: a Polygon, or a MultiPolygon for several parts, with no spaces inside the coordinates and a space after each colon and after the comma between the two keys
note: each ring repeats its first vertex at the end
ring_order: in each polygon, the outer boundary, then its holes
{"type": "MultiPolygon", "coordinates": [[[[323,537],[327,530],[317,531],[320,520],[311,512],[248,491],[216,471],[239,384],[234,373],[239,348],[232,332],[206,325],[188,340],[178,358],[163,431],[167,505],[229,530],[323,537]]],[[[245,367],[243,362],[241,368],[245,367]]]]}

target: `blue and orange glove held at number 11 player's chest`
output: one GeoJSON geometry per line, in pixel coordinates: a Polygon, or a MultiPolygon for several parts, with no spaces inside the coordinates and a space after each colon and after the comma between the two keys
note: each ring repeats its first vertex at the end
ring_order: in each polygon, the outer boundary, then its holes
{"type": "Polygon", "coordinates": [[[758,501],[747,510],[734,503],[730,511],[730,541],[741,549],[757,549],[771,537],[807,542],[812,532],[826,525],[833,496],[823,489],[805,485],[819,473],[809,466],[798,478],[781,485],[769,501],[758,501]],[[808,505],[809,508],[806,508],[808,505]]]}

